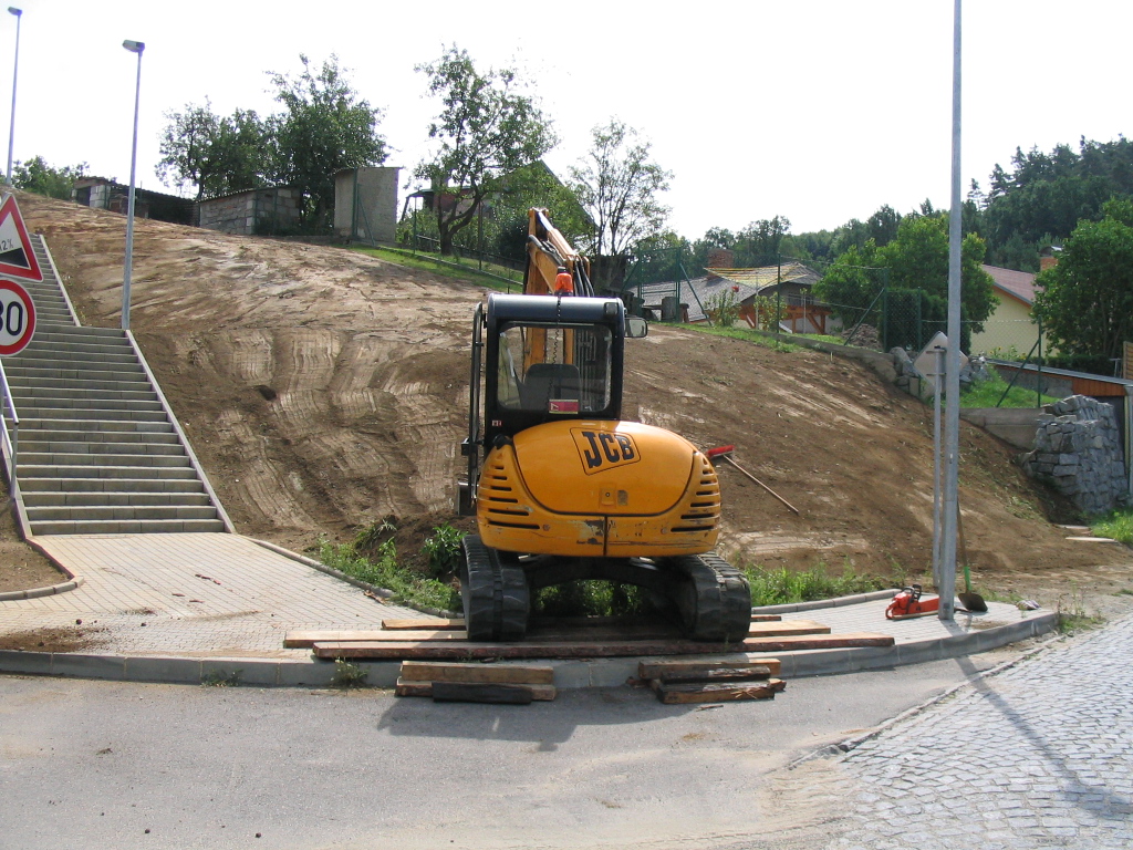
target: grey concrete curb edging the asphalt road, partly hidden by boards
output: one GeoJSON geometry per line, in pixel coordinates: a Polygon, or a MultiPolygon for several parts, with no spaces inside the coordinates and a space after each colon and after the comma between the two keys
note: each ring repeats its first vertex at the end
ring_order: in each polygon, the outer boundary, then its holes
{"type": "MultiPolygon", "coordinates": [[[[1025,612],[1019,622],[964,635],[891,647],[810,649],[774,655],[783,662],[783,677],[787,679],[853,673],[987,652],[1043,635],[1055,628],[1057,619],[1055,612],[1025,612]]],[[[630,657],[548,663],[555,670],[555,686],[570,689],[622,686],[627,680],[637,678],[639,661],[630,657]]],[[[378,688],[392,688],[400,669],[400,663],[394,661],[357,661],[352,664],[366,672],[367,686],[378,688]]],[[[330,687],[334,685],[338,670],[333,662],[316,658],[185,658],[5,649],[0,651],[0,672],[180,685],[330,687]]]]}

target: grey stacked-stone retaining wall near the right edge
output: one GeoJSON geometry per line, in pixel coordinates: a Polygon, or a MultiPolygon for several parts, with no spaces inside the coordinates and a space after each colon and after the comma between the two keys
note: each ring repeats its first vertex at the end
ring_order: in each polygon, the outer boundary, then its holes
{"type": "Polygon", "coordinates": [[[1039,418],[1034,451],[1023,469],[1070,496],[1088,515],[1107,513],[1125,500],[1125,460],[1114,408],[1071,396],[1039,418]]]}

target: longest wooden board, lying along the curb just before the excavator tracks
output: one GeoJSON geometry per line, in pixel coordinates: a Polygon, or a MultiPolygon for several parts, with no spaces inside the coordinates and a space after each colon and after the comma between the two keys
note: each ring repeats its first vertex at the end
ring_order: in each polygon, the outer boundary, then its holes
{"type": "Polygon", "coordinates": [[[696,640],[634,640],[628,643],[518,643],[479,644],[465,640],[330,640],[314,646],[320,658],[380,658],[415,661],[472,661],[475,658],[612,658],[633,655],[718,655],[742,652],[790,652],[793,649],[835,649],[855,646],[893,646],[892,635],[852,632],[845,635],[801,635],[796,637],[748,638],[736,644],[709,644],[696,640]]]}

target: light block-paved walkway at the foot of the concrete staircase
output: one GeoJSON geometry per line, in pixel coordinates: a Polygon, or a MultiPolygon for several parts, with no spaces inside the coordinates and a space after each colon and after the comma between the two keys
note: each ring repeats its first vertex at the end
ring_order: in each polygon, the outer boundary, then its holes
{"type": "Polygon", "coordinates": [[[37,541],[84,584],[0,602],[0,634],[82,620],[96,653],[308,658],[308,649],[283,648],[287,631],[376,629],[383,619],[421,615],[235,534],[37,541]]]}

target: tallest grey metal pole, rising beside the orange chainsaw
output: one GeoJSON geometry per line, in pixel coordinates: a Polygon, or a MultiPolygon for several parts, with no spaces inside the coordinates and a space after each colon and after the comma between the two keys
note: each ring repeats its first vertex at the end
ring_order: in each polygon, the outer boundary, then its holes
{"type": "Polygon", "coordinates": [[[945,355],[944,517],[940,541],[940,613],[956,606],[956,528],[960,516],[960,6],[955,0],[952,46],[952,210],[948,215],[948,350],[945,355]]]}

